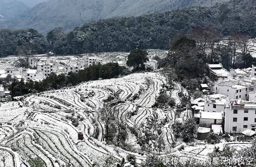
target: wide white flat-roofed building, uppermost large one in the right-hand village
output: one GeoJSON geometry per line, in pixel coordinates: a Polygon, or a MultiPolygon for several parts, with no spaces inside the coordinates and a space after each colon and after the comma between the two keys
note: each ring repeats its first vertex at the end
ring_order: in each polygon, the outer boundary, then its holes
{"type": "Polygon", "coordinates": [[[230,99],[248,100],[248,91],[250,86],[238,85],[226,81],[216,82],[214,91],[218,94],[226,95],[230,99]]]}

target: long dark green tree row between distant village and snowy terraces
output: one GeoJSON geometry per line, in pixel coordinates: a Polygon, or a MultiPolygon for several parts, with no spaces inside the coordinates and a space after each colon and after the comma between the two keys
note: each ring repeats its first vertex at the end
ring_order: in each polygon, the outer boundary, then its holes
{"type": "Polygon", "coordinates": [[[84,70],[79,70],[77,73],[69,72],[68,75],[51,73],[50,76],[47,76],[40,82],[30,80],[25,83],[24,79],[19,81],[17,78],[14,78],[11,83],[3,82],[3,86],[10,91],[12,97],[15,97],[28,93],[75,86],[90,80],[116,78],[128,73],[129,71],[125,67],[118,66],[117,63],[92,64],[84,70]]]}

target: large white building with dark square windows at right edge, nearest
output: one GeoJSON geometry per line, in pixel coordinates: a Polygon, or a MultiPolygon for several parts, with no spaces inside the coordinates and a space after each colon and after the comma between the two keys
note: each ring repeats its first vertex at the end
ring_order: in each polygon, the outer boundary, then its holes
{"type": "Polygon", "coordinates": [[[256,102],[234,100],[226,109],[224,130],[241,133],[246,129],[256,129],[256,102]]]}

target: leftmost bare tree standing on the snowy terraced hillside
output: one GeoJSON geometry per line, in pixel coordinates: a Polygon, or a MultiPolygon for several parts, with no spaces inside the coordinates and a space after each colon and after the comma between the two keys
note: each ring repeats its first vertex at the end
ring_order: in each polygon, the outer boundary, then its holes
{"type": "Polygon", "coordinates": [[[105,140],[108,141],[109,136],[109,125],[114,119],[114,109],[112,109],[108,104],[104,104],[104,107],[100,110],[101,119],[105,123],[105,140]]]}

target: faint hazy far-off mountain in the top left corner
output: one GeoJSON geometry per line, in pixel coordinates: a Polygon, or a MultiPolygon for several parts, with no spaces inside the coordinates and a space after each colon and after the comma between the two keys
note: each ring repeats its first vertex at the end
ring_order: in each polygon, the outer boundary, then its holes
{"type": "Polygon", "coordinates": [[[0,0],[0,19],[16,18],[28,9],[28,6],[17,0],[0,0]]]}

